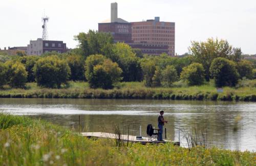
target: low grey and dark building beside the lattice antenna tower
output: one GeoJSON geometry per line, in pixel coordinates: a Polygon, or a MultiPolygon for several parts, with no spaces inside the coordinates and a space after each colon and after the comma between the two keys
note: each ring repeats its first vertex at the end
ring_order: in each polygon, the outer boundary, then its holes
{"type": "Polygon", "coordinates": [[[52,51],[66,53],[68,51],[66,43],[63,43],[63,41],[42,40],[38,38],[37,40],[30,40],[30,44],[27,47],[28,55],[41,55],[52,51]]]}

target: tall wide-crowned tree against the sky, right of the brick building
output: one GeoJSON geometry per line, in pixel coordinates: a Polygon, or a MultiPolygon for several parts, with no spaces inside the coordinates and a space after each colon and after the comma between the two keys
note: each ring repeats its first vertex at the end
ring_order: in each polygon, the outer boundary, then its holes
{"type": "Polygon", "coordinates": [[[189,48],[196,62],[203,64],[205,69],[205,79],[210,80],[211,62],[218,57],[239,61],[242,58],[241,49],[232,49],[227,40],[209,38],[205,42],[191,42],[189,48]]]}

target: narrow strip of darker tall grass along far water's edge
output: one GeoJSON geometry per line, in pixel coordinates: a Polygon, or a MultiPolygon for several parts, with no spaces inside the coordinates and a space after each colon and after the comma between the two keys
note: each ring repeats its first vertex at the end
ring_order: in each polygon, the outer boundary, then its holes
{"type": "MultiPolygon", "coordinates": [[[[189,89],[189,88],[188,88],[189,89]]],[[[233,92],[200,92],[159,89],[13,89],[0,90],[0,98],[46,98],[46,99],[150,99],[186,101],[256,101],[256,94],[236,94],[233,92]]]]}

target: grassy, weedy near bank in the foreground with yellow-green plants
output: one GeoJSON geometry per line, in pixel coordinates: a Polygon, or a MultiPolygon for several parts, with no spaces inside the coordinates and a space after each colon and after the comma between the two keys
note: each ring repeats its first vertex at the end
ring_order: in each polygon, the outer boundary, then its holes
{"type": "Polygon", "coordinates": [[[165,145],[116,147],[39,120],[0,114],[1,165],[253,165],[256,153],[165,145]]]}

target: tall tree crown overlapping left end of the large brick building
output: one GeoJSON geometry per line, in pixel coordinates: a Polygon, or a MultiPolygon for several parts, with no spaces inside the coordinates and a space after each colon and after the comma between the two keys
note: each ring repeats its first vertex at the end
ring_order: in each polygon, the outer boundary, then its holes
{"type": "Polygon", "coordinates": [[[86,57],[93,54],[105,55],[105,52],[109,52],[107,45],[114,43],[113,37],[110,33],[92,30],[89,30],[88,33],[79,33],[74,36],[74,39],[78,41],[79,49],[81,49],[82,55],[86,57]]]}

